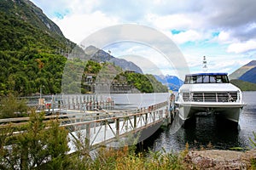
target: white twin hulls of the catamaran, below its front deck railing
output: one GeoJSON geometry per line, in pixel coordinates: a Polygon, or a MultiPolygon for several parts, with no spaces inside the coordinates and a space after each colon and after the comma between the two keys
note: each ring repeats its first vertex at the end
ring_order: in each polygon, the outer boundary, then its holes
{"type": "Polygon", "coordinates": [[[218,114],[225,119],[228,119],[232,122],[239,122],[239,116],[241,113],[241,109],[243,107],[242,104],[236,103],[223,103],[218,104],[216,103],[195,103],[195,102],[188,102],[183,104],[177,104],[177,110],[179,117],[186,121],[192,116],[195,116],[195,113],[198,112],[213,112],[218,114]]]}

